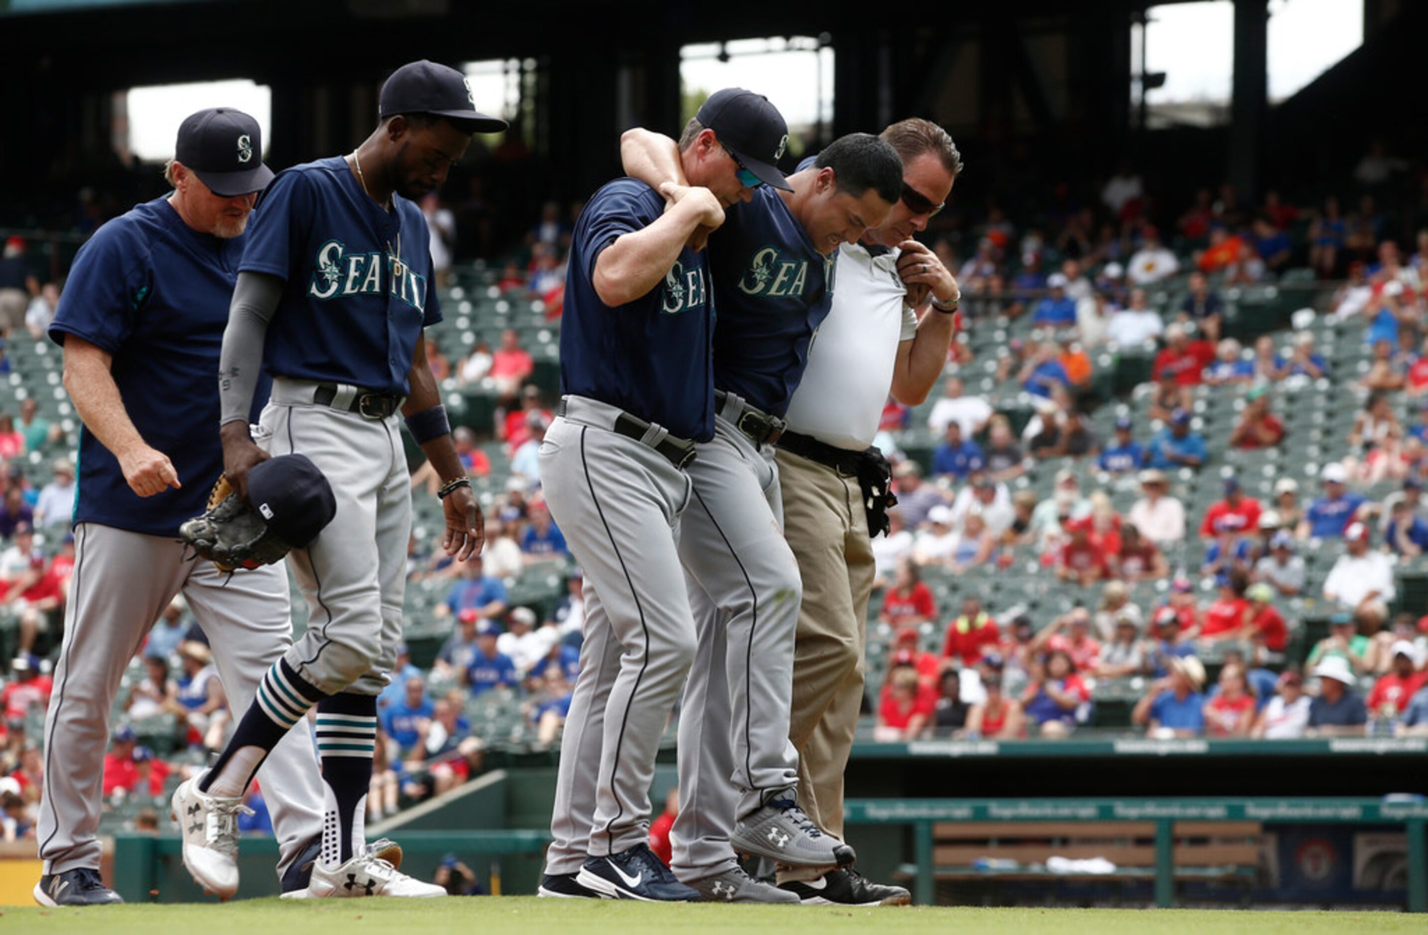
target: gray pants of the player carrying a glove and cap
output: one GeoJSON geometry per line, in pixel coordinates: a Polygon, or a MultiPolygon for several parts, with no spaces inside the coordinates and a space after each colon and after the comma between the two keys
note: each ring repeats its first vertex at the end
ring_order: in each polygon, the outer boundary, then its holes
{"type": "Polygon", "coordinates": [[[311,612],[286,658],[323,694],[376,695],[401,641],[411,475],[397,415],[317,405],[316,388],[274,380],[256,437],[268,454],[311,458],[337,498],[337,515],[317,540],[287,557],[311,612]]]}

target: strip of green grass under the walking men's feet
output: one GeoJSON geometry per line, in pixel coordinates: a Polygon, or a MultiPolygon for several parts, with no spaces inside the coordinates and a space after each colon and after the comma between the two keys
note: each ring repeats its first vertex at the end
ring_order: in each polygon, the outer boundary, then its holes
{"type": "Polygon", "coordinates": [[[503,896],[478,899],[353,899],[220,905],[126,905],[97,909],[0,908],[0,931],[26,935],[1218,935],[1221,932],[1428,932],[1428,916],[1398,912],[1240,912],[1140,909],[972,909],[721,906],[585,902],[503,896]]]}

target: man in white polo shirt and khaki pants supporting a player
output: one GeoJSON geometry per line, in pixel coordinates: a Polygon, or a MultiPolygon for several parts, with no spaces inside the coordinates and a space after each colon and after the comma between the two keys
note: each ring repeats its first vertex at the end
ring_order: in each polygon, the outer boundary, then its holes
{"type": "MultiPolygon", "coordinates": [[[[868,530],[883,531],[888,485],[885,463],[870,447],[890,390],[917,405],[941,377],[960,298],[952,274],[912,240],[952,190],[962,168],[957,146],[920,118],[881,136],[902,158],[902,198],[883,227],[840,247],[833,311],[808,348],[778,441],[784,534],[804,585],[788,731],[798,748],[798,804],[838,838],[875,571],[868,530]],[[874,488],[878,504],[870,511],[874,488]]],[[[910,902],[907,889],[874,884],[851,868],[783,869],[778,884],[804,902],[910,902]]]]}

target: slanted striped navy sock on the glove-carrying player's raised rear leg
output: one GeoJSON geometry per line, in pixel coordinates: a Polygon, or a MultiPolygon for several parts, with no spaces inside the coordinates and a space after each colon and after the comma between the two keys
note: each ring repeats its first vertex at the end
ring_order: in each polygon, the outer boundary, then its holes
{"type": "Polygon", "coordinates": [[[308,708],[323,697],[323,692],[307,684],[284,659],[274,662],[258,682],[253,704],[233,731],[233,739],[213,768],[198,779],[198,789],[227,798],[243,795],[278,741],[287,737],[293,725],[301,721],[308,708]]]}

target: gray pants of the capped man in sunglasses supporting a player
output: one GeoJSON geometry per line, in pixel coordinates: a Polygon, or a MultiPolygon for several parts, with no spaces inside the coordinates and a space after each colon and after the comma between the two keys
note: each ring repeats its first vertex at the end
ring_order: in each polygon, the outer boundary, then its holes
{"type": "Polygon", "coordinates": [[[545,501],[585,572],[585,641],[560,744],[547,874],[648,842],[654,758],[694,659],[675,545],[690,481],[610,431],[617,414],[567,397],[540,448],[545,501]]]}

